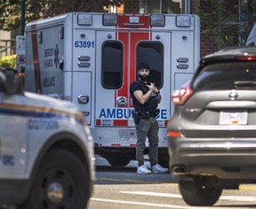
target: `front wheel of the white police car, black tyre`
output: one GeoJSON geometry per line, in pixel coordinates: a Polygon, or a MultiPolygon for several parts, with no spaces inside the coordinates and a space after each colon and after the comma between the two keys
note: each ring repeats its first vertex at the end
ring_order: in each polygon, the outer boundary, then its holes
{"type": "Polygon", "coordinates": [[[70,151],[49,151],[36,174],[32,190],[19,209],[84,209],[89,198],[88,172],[70,151]]]}

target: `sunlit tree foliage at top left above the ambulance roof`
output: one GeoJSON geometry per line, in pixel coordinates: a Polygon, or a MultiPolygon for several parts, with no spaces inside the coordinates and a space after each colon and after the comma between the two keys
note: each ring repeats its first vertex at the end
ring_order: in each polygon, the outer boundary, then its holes
{"type": "MultiPolygon", "coordinates": [[[[68,12],[106,12],[104,6],[123,4],[123,0],[25,0],[26,23],[68,12]]],[[[0,28],[10,31],[20,27],[21,1],[0,0],[0,28]]]]}

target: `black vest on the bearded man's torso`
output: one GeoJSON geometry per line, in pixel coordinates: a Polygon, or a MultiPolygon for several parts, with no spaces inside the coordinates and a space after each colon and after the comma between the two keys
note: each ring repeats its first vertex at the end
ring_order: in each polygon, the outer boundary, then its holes
{"type": "MultiPolygon", "coordinates": [[[[148,92],[148,87],[145,83],[141,81],[134,81],[131,85],[130,92],[132,94],[132,104],[136,111],[140,112],[156,112],[156,108],[158,106],[158,96],[153,91],[151,93],[151,97],[149,97],[148,101],[145,104],[140,104],[140,102],[134,97],[133,92],[135,90],[141,90],[143,92],[143,95],[145,95],[148,92]],[[132,85],[138,85],[140,88],[132,88],[132,85]]],[[[135,86],[133,86],[135,87],[135,86]]]]}

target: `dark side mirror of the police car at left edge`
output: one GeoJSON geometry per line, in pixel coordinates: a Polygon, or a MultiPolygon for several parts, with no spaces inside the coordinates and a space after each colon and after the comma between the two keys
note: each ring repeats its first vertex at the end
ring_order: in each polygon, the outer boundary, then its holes
{"type": "Polygon", "coordinates": [[[23,92],[22,81],[18,74],[13,72],[0,72],[0,91],[10,96],[23,92]],[[4,74],[5,73],[5,74],[4,74]]]}

